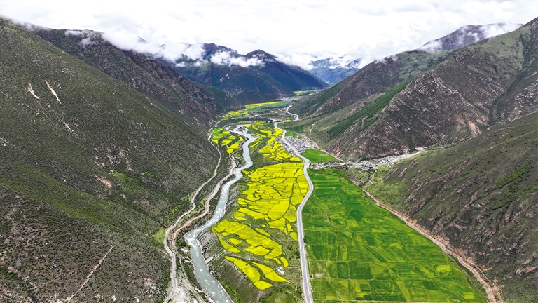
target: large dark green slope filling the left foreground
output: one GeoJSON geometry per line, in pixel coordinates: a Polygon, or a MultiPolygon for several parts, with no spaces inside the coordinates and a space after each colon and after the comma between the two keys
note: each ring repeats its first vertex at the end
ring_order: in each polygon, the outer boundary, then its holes
{"type": "Polygon", "coordinates": [[[0,20],[0,301],[158,302],[154,234],[218,154],[165,102],[0,20]]]}

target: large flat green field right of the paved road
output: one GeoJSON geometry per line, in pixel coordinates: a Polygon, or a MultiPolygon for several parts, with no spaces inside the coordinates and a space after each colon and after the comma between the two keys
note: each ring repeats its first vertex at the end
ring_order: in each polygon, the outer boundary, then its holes
{"type": "Polygon", "coordinates": [[[441,249],[338,170],[310,170],[303,210],[317,302],[485,302],[441,249]]]}

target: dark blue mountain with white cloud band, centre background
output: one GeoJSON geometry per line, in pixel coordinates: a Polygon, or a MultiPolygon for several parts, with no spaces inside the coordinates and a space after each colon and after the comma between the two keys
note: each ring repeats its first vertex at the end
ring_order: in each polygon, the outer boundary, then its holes
{"type": "MultiPolygon", "coordinates": [[[[194,47],[194,46],[193,46],[194,47]]],[[[247,55],[215,44],[202,44],[200,58],[169,62],[193,81],[220,88],[244,103],[291,97],[297,90],[328,87],[324,81],[274,55],[255,50],[247,55]]]]}

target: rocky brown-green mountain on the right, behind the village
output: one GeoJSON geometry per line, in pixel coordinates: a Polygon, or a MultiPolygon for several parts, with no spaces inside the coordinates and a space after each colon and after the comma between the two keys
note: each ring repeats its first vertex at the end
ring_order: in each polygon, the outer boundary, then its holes
{"type": "Polygon", "coordinates": [[[407,52],[374,62],[298,102],[289,123],[350,159],[462,142],[538,109],[537,20],[455,50],[407,52]],[[447,56],[448,55],[448,56],[447,56]]]}

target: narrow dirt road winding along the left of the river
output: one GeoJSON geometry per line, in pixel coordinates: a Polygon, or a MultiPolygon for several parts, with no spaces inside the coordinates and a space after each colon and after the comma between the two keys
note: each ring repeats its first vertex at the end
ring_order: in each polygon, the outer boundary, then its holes
{"type": "Polygon", "coordinates": [[[163,303],[167,303],[167,302],[170,302],[170,300],[175,296],[177,295],[176,293],[178,291],[180,291],[181,288],[179,288],[177,286],[177,274],[176,274],[176,254],[170,249],[170,247],[168,246],[168,238],[170,236],[170,232],[172,232],[176,227],[177,227],[177,224],[179,224],[179,222],[181,222],[181,219],[183,219],[186,215],[188,215],[189,213],[191,213],[195,208],[196,208],[196,196],[198,196],[198,193],[200,193],[200,191],[202,190],[203,187],[205,187],[205,184],[209,183],[211,180],[213,180],[213,178],[216,176],[216,171],[217,169],[219,169],[219,166],[221,165],[221,160],[222,160],[222,154],[221,154],[221,151],[219,150],[218,147],[216,147],[212,142],[211,142],[211,135],[207,138],[207,140],[209,140],[209,142],[215,147],[216,151],[219,152],[219,161],[216,163],[216,166],[215,166],[215,170],[213,172],[213,175],[212,177],[209,178],[209,180],[207,180],[204,184],[200,185],[200,187],[198,187],[198,189],[196,189],[196,191],[194,192],[193,196],[191,197],[191,209],[189,209],[186,213],[184,213],[183,215],[179,216],[176,220],[176,222],[174,222],[174,224],[172,224],[172,226],[168,227],[168,229],[165,231],[165,238],[163,239],[163,245],[165,246],[165,250],[166,252],[168,253],[168,255],[170,255],[170,260],[172,261],[172,265],[170,266],[170,280],[172,281],[172,289],[170,290],[170,293],[167,295],[166,299],[163,301],[163,303]]]}

